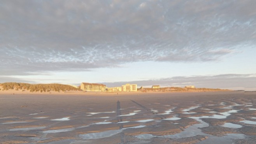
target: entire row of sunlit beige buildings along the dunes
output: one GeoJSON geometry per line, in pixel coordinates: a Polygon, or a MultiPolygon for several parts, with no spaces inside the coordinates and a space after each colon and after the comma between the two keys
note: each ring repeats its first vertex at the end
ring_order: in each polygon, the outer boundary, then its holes
{"type": "MultiPolygon", "coordinates": [[[[81,83],[81,90],[89,92],[137,92],[137,84],[126,83],[121,87],[106,87],[106,85],[98,83],[81,83]]],[[[152,88],[160,88],[160,85],[153,85],[152,88]]],[[[185,88],[195,88],[193,85],[185,88]]]]}

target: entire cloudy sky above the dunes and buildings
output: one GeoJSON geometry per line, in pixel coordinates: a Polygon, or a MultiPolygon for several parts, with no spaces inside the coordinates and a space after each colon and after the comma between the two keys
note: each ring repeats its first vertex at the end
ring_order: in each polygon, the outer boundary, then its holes
{"type": "Polygon", "coordinates": [[[0,82],[256,87],[255,0],[2,0],[0,82]]]}

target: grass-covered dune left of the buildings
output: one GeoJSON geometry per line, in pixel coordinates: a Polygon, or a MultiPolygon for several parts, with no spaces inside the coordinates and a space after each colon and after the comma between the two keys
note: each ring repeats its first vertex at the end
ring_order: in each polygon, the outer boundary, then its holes
{"type": "Polygon", "coordinates": [[[2,90],[29,90],[30,92],[50,92],[50,91],[70,91],[79,90],[78,88],[72,87],[70,85],[62,85],[58,83],[51,84],[29,84],[29,83],[0,83],[2,90]]]}

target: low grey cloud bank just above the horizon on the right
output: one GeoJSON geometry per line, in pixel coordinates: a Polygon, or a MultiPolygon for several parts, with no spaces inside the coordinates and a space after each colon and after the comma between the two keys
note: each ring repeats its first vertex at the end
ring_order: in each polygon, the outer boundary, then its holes
{"type": "MultiPolygon", "coordinates": [[[[113,82],[104,83],[107,87],[117,87],[125,83],[135,83],[138,87],[151,87],[152,85],[160,85],[161,87],[185,87],[186,85],[195,85],[198,88],[254,88],[256,89],[256,74],[226,74],[212,76],[177,76],[171,78],[163,78],[156,80],[141,80],[133,82],[113,82]]],[[[240,89],[241,90],[241,89],[240,89]]]]}

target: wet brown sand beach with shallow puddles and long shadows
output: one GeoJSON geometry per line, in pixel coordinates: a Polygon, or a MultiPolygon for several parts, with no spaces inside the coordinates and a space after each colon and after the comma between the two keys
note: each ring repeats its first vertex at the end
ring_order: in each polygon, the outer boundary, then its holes
{"type": "Polygon", "coordinates": [[[1,144],[255,140],[255,92],[0,95],[1,144]]]}

